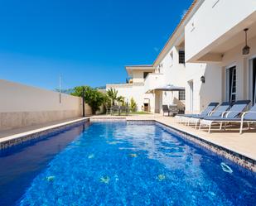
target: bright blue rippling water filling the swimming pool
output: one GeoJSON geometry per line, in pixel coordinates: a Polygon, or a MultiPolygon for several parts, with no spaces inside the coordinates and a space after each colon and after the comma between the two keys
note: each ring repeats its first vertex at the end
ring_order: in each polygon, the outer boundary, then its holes
{"type": "Polygon", "coordinates": [[[256,175],[154,124],[94,122],[0,156],[0,205],[256,205],[256,175]]]}

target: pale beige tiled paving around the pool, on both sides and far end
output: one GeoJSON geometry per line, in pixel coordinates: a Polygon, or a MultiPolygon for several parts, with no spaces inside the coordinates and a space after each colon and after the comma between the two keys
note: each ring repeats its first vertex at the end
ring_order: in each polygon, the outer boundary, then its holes
{"type": "MultiPolygon", "coordinates": [[[[251,129],[250,131],[244,130],[242,135],[239,135],[238,127],[229,128],[226,131],[219,131],[213,129],[211,133],[207,132],[207,129],[202,129],[201,131],[196,130],[192,126],[185,126],[179,124],[175,121],[173,117],[163,117],[160,114],[145,114],[145,115],[131,115],[131,116],[110,116],[110,115],[99,115],[90,117],[92,119],[111,119],[111,118],[123,118],[124,120],[130,121],[149,121],[155,120],[157,122],[163,123],[167,126],[174,127],[178,130],[187,132],[192,136],[200,137],[205,141],[210,141],[215,145],[225,147],[230,151],[234,151],[243,156],[247,156],[253,160],[256,160],[256,129],[251,129]]],[[[44,125],[37,125],[33,127],[26,127],[21,129],[16,129],[12,131],[0,132],[0,142],[4,140],[10,140],[26,134],[31,134],[31,132],[38,132],[47,130],[51,127],[58,127],[62,124],[69,124],[73,121],[79,121],[81,118],[69,119],[62,122],[51,122],[44,125]]],[[[120,120],[120,119],[119,119],[120,120]]]]}

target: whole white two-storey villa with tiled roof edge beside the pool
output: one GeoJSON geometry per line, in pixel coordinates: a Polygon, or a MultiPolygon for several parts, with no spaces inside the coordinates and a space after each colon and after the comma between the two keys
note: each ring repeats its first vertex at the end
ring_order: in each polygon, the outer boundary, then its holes
{"type": "Polygon", "coordinates": [[[127,66],[128,84],[107,84],[138,110],[177,104],[199,113],[210,102],[256,103],[256,1],[195,0],[152,65],[127,66]]]}

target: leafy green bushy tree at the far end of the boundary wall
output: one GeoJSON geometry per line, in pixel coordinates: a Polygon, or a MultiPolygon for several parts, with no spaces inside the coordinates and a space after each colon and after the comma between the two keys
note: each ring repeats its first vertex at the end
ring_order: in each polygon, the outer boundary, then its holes
{"type": "Polygon", "coordinates": [[[92,89],[89,86],[75,87],[74,92],[71,94],[78,97],[84,96],[85,103],[88,103],[93,114],[99,110],[102,104],[106,103],[108,98],[106,94],[99,92],[97,89],[92,89]]]}

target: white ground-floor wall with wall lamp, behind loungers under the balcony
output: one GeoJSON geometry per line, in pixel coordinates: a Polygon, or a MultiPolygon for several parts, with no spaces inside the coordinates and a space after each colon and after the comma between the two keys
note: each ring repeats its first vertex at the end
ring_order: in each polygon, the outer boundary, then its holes
{"type": "MultiPolygon", "coordinates": [[[[226,72],[231,65],[236,66],[236,100],[249,99],[249,60],[256,57],[256,36],[249,40],[250,55],[241,54],[243,45],[235,46],[225,53],[221,63],[186,63],[186,80],[194,82],[194,109],[200,113],[210,102],[224,102],[226,97],[226,72]],[[200,65],[200,68],[198,67],[200,65]],[[205,84],[200,76],[205,76],[205,84]]],[[[186,97],[189,97],[189,84],[186,85],[186,97]]],[[[186,98],[186,113],[190,113],[190,99],[186,98]]]]}

